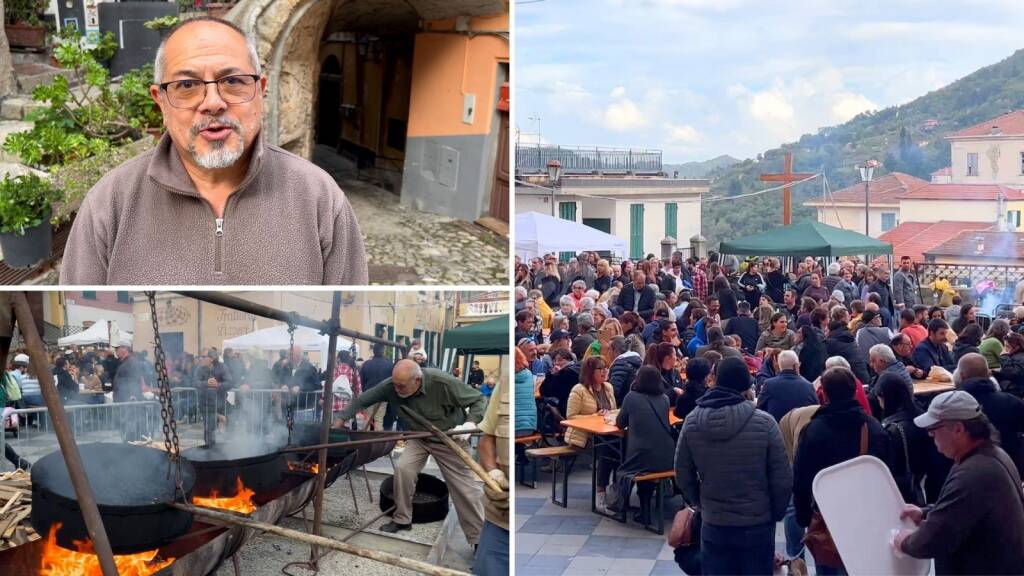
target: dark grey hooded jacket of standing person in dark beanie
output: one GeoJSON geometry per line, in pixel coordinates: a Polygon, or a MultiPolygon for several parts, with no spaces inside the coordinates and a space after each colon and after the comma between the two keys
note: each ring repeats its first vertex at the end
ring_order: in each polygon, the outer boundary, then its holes
{"type": "Polygon", "coordinates": [[[676,483],[709,524],[742,527],[782,520],[793,468],[775,419],[738,393],[711,388],[679,435],[676,483]]]}

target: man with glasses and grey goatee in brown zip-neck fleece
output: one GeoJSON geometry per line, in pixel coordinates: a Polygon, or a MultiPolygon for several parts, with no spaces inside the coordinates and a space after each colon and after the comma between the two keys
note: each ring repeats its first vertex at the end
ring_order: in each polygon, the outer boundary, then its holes
{"type": "Polygon", "coordinates": [[[234,25],[197,17],[157,52],[167,133],[86,196],[61,284],[367,284],[351,205],[324,170],[266,141],[266,78],[234,25]]]}

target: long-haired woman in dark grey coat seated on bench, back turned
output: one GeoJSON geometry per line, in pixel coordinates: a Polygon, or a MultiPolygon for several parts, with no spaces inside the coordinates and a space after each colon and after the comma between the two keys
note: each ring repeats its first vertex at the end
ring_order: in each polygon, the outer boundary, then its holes
{"type": "MultiPolygon", "coordinates": [[[[637,371],[633,389],[626,395],[615,417],[615,425],[626,430],[626,458],[618,466],[618,478],[632,479],[672,469],[676,439],[669,425],[669,399],[662,389],[662,374],[656,368],[642,366],[637,371]]],[[[654,484],[642,482],[637,485],[640,511],[633,520],[638,524],[650,524],[654,484]]],[[[629,492],[620,491],[621,503],[629,502],[629,492]]]]}

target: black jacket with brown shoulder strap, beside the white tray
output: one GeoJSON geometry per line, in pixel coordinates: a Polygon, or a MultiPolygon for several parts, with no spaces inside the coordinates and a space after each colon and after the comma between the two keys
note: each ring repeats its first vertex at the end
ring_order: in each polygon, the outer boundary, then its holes
{"type": "Polygon", "coordinates": [[[878,420],[864,414],[854,399],[822,406],[801,433],[793,461],[793,504],[801,526],[811,523],[814,477],[860,454],[860,428],[865,422],[867,453],[888,463],[889,435],[878,420]]]}

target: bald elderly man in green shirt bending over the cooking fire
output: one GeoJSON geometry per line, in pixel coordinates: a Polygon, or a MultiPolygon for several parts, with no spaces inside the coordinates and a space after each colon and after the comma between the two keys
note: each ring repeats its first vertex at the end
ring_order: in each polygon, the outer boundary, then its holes
{"type": "MultiPolygon", "coordinates": [[[[379,402],[394,406],[398,421],[409,430],[424,428],[408,418],[400,410],[401,406],[419,413],[442,430],[468,431],[475,429],[483,419],[487,404],[483,395],[452,375],[433,368],[421,368],[412,360],[399,360],[390,378],[362,393],[338,418],[347,422],[356,412],[379,402]]],[[[476,486],[469,466],[451,448],[433,438],[406,442],[406,449],[394,469],[394,515],[381,530],[393,533],[412,528],[416,478],[429,456],[434,457],[441,469],[466,539],[475,545],[480,540],[483,526],[480,488],[476,486]]]]}

